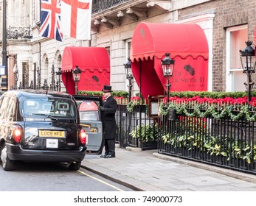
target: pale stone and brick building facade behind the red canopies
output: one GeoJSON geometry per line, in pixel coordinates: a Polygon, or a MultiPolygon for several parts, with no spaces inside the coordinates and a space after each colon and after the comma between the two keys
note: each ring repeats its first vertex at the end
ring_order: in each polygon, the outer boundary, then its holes
{"type": "MultiPolygon", "coordinates": [[[[40,0],[6,1],[7,28],[31,28],[32,32],[32,38],[7,39],[9,88],[31,82],[33,88],[40,88],[45,81],[50,86],[56,82],[55,72],[66,46],[100,46],[109,51],[113,90],[128,90],[123,64],[129,57],[134,29],[140,22],[152,22],[201,26],[209,45],[208,90],[245,90],[239,49],[246,46],[244,41],[253,40],[256,1],[93,0],[91,40],[64,37],[63,42],[39,36],[40,0]]],[[[138,91],[134,82],[133,95],[138,91]]]]}

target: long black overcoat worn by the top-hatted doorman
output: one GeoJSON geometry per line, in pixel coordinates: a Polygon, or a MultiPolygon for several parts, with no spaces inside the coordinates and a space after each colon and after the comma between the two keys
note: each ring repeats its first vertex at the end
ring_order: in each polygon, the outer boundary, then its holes
{"type": "Polygon", "coordinates": [[[103,102],[103,127],[104,138],[115,139],[117,137],[117,122],[115,113],[117,112],[117,101],[113,96],[109,96],[105,102],[103,102]]]}

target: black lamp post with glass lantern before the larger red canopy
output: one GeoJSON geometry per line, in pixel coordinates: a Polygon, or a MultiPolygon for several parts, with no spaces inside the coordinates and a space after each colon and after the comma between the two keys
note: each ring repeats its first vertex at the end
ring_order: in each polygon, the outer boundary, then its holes
{"type": "Polygon", "coordinates": [[[173,76],[174,60],[170,58],[170,53],[165,53],[165,59],[162,62],[162,72],[166,78],[166,89],[167,89],[167,104],[169,104],[169,91],[170,91],[170,77],[173,76]]]}

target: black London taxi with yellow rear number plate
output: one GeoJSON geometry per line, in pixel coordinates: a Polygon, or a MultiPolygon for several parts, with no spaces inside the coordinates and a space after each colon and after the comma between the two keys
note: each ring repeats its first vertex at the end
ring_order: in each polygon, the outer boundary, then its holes
{"type": "Polygon", "coordinates": [[[0,98],[0,152],[5,171],[15,161],[67,163],[80,168],[86,129],[73,96],[49,90],[9,90],[0,98]]]}

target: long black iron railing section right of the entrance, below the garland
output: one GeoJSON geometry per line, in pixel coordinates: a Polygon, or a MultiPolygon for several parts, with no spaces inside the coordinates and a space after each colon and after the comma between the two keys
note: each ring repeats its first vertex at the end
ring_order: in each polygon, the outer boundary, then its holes
{"type": "Polygon", "coordinates": [[[243,116],[159,117],[158,152],[256,174],[256,123],[243,116]]]}

